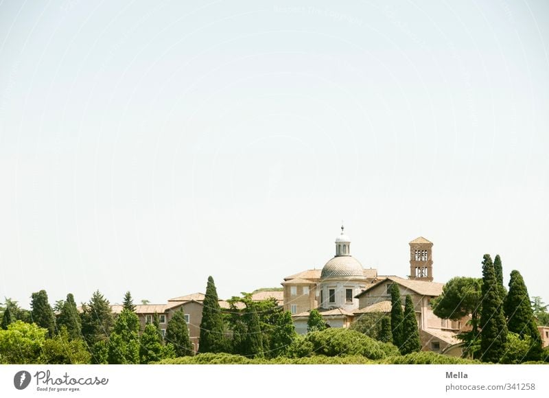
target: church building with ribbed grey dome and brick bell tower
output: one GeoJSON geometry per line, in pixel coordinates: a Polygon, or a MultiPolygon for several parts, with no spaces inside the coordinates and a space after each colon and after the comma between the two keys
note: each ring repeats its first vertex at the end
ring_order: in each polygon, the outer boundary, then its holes
{"type": "Polygon", "coordinates": [[[329,327],[349,327],[361,316],[389,313],[390,287],[397,283],[402,303],[410,294],[416,310],[420,340],[425,351],[461,355],[455,336],[467,329],[467,319],[452,321],[435,316],[431,299],[442,293],[443,283],[433,282],[432,242],[418,237],[410,245],[410,274],[406,278],[378,275],[351,255],[351,239],[336,237],[336,255],[322,270],[304,270],[281,283],[284,309],[290,311],[298,333],[307,333],[307,320],[317,309],[329,327]]]}

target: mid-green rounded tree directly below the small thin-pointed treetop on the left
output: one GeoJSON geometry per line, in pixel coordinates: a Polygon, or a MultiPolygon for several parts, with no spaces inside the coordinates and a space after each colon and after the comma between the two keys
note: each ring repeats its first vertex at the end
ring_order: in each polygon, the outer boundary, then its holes
{"type": "Polygon", "coordinates": [[[129,309],[117,316],[108,339],[109,364],[139,364],[139,318],[129,309]]]}

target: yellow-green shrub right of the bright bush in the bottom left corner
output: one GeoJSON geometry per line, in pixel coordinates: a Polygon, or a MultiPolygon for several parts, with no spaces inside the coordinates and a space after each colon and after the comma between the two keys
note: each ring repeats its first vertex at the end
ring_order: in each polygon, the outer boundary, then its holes
{"type": "Polygon", "coordinates": [[[60,326],[59,333],[54,338],[45,340],[40,363],[44,364],[89,364],[91,354],[86,342],[79,338],[71,338],[67,328],[60,326]]]}

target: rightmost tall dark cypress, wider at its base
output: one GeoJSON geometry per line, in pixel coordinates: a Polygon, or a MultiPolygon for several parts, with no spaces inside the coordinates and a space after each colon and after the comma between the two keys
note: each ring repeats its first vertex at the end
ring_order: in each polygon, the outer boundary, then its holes
{"type": "Polygon", "coordinates": [[[539,360],[541,354],[541,336],[537,330],[533,309],[530,305],[530,296],[522,275],[517,270],[511,271],[509,280],[509,294],[504,303],[507,327],[509,331],[517,333],[521,340],[530,336],[531,346],[527,360],[539,360]]]}

